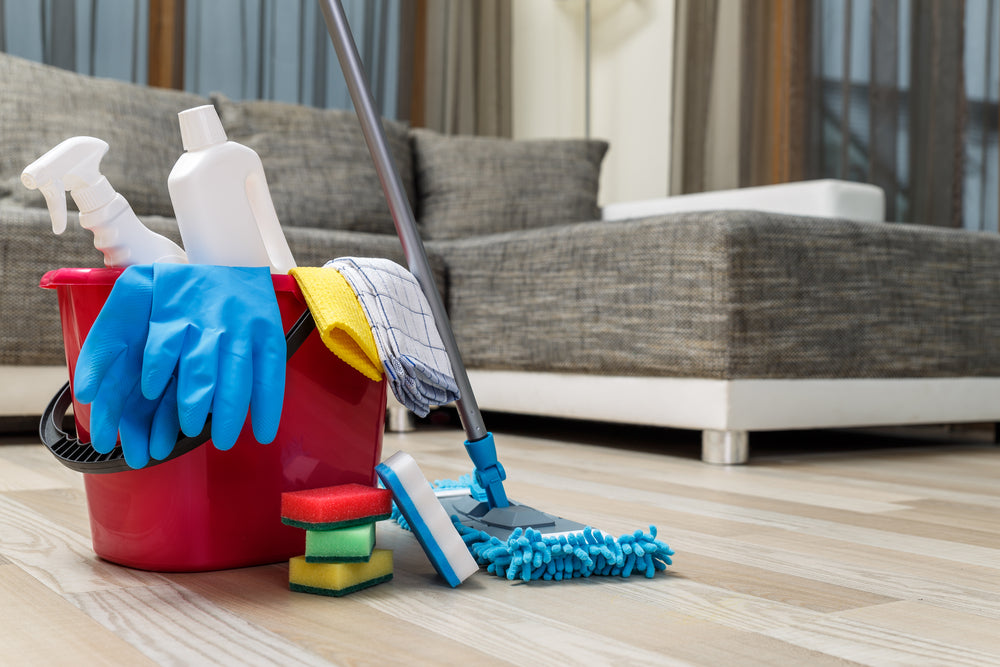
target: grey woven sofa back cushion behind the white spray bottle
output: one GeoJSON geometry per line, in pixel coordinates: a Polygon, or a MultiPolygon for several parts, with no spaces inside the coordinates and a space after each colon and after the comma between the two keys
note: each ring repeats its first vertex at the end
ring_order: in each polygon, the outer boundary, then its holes
{"type": "MultiPolygon", "coordinates": [[[[0,199],[44,207],[21,171],[59,142],[108,142],[101,171],[138,215],[173,215],[167,175],[184,151],[177,113],[208,99],[100,79],[0,53],[0,199]]],[[[69,201],[72,206],[72,200],[69,201]]]]}

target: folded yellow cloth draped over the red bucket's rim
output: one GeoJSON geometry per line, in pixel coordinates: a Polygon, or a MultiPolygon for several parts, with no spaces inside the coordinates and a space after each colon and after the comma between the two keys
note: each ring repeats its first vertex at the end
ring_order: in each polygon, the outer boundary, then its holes
{"type": "Polygon", "coordinates": [[[299,284],[330,351],[366,378],[382,379],[382,363],[371,325],[351,285],[335,269],[296,267],[289,271],[299,284]]]}

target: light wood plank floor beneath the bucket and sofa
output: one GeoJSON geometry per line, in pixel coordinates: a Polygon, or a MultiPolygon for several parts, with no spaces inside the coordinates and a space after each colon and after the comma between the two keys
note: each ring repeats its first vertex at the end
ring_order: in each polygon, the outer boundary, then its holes
{"type": "MultiPolygon", "coordinates": [[[[30,435],[0,446],[0,663],[1000,664],[1000,450],[952,434],[789,433],[749,465],[697,460],[696,434],[491,425],[518,501],[615,534],[655,524],[654,579],[452,590],[383,522],[395,578],[344,598],[287,589],[286,564],[138,572],[91,551],[81,475],[30,435]]],[[[387,435],[431,478],[462,434],[387,435]]]]}

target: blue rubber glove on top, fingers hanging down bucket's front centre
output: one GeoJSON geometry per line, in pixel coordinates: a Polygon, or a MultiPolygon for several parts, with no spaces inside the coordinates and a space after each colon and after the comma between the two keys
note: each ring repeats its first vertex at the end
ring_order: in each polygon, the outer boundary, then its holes
{"type": "Polygon", "coordinates": [[[254,437],[274,440],[285,395],[285,334],[267,267],[154,264],[142,393],[154,399],[177,377],[177,414],[188,436],[212,413],[212,443],[229,449],[247,409],[254,437]]]}

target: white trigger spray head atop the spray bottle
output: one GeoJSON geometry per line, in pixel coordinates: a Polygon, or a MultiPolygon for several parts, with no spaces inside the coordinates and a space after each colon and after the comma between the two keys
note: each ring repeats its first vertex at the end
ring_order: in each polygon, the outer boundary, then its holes
{"type": "Polygon", "coordinates": [[[101,158],[108,152],[108,144],[95,137],[71,137],[21,172],[21,182],[30,190],[38,190],[45,197],[52,218],[52,231],[62,234],[66,230],[66,191],[81,212],[95,210],[114,197],[114,190],[101,175],[101,158]]]}

